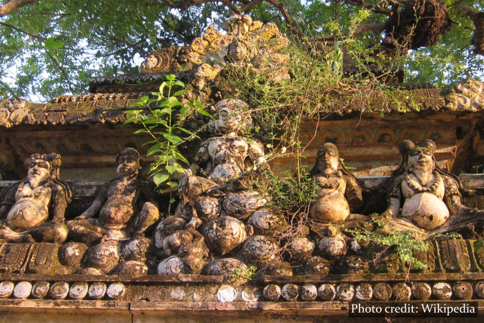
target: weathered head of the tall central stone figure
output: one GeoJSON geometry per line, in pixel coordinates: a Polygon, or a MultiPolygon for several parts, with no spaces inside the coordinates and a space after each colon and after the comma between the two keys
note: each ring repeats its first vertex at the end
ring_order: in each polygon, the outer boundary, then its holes
{"type": "Polygon", "coordinates": [[[248,104],[238,99],[225,99],[216,102],[213,109],[215,121],[209,124],[213,133],[236,134],[252,125],[252,118],[244,114],[248,104]]]}

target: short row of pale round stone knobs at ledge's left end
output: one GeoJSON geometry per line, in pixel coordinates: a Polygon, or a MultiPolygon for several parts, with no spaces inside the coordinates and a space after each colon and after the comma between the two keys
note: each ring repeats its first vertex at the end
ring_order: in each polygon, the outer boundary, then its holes
{"type": "Polygon", "coordinates": [[[75,282],[69,286],[66,282],[19,282],[14,284],[10,281],[0,283],[0,298],[8,298],[11,295],[15,298],[26,299],[30,296],[34,298],[50,297],[52,299],[102,299],[107,295],[109,299],[120,299],[126,293],[126,287],[122,283],[113,283],[109,286],[102,282],[75,282]]]}

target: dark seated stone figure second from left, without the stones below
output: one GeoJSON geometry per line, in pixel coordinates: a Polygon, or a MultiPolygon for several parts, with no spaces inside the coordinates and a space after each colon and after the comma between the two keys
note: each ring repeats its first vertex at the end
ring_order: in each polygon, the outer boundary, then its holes
{"type": "Polygon", "coordinates": [[[159,217],[153,185],[138,179],[140,154],[126,148],[118,155],[118,178],[99,187],[91,207],[67,221],[69,237],[87,244],[141,237],[159,217]]]}

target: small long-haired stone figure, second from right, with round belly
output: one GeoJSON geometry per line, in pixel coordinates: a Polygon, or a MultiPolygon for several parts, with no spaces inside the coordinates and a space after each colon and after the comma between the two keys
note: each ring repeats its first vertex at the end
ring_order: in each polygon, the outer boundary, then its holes
{"type": "Polygon", "coordinates": [[[326,142],[317,150],[316,165],[310,172],[317,184],[318,200],[310,208],[315,220],[345,221],[362,203],[356,178],[342,165],[337,147],[326,142]]]}

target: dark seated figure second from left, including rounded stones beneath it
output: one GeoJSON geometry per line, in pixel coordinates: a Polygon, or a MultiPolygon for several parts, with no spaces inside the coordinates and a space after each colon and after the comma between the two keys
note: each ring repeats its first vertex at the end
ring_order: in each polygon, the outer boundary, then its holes
{"type": "Polygon", "coordinates": [[[138,178],[140,154],[126,148],[118,155],[118,178],[99,187],[91,207],[67,221],[71,239],[89,246],[86,273],[142,275],[151,239],[144,232],[160,214],[154,187],[138,178]],[[121,260],[121,262],[120,262],[121,260]]]}

